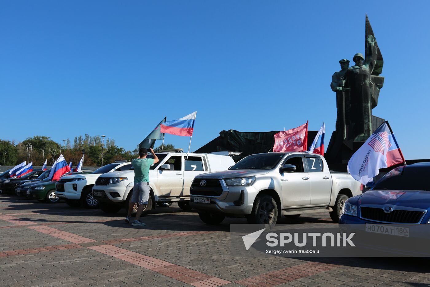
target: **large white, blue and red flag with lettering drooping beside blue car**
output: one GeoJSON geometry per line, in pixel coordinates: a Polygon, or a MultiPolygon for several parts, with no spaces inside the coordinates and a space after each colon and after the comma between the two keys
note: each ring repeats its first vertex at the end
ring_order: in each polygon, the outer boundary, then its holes
{"type": "Polygon", "coordinates": [[[347,169],[353,178],[362,184],[367,184],[379,174],[379,169],[404,162],[405,158],[393,131],[385,121],[353,154],[347,169]]]}

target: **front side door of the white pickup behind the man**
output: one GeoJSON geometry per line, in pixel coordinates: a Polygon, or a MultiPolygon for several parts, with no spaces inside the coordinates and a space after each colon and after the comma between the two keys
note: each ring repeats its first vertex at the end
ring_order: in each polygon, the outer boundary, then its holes
{"type": "MultiPolygon", "coordinates": [[[[169,170],[157,170],[158,196],[180,196],[184,190],[183,156],[173,155],[164,164],[170,166],[169,170]]],[[[160,165],[161,167],[161,165],[160,165]]]]}

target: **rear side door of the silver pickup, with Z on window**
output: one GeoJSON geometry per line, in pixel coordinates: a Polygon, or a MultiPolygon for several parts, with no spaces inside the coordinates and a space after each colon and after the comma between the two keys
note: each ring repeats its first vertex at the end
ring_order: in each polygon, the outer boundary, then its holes
{"type": "Polygon", "coordinates": [[[332,193],[332,175],[321,157],[305,155],[310,181],[310,205],[327,205],[332,193]]]}

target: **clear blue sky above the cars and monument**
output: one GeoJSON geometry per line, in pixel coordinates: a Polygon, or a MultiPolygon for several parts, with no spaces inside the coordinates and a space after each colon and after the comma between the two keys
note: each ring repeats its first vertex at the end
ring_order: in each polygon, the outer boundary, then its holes
{"type": "Polygon", "coordinates": [[[367,12],[384,57],[373,114],[407,159],[430,158],[428,11],[429,1],[3,0],[0,139],[104,134],[134,149],[165,116],[197,111],[191,150],[221,130],[307,120],[326,122],[327,146],[331,77],[363,53],[367,12]]]}

